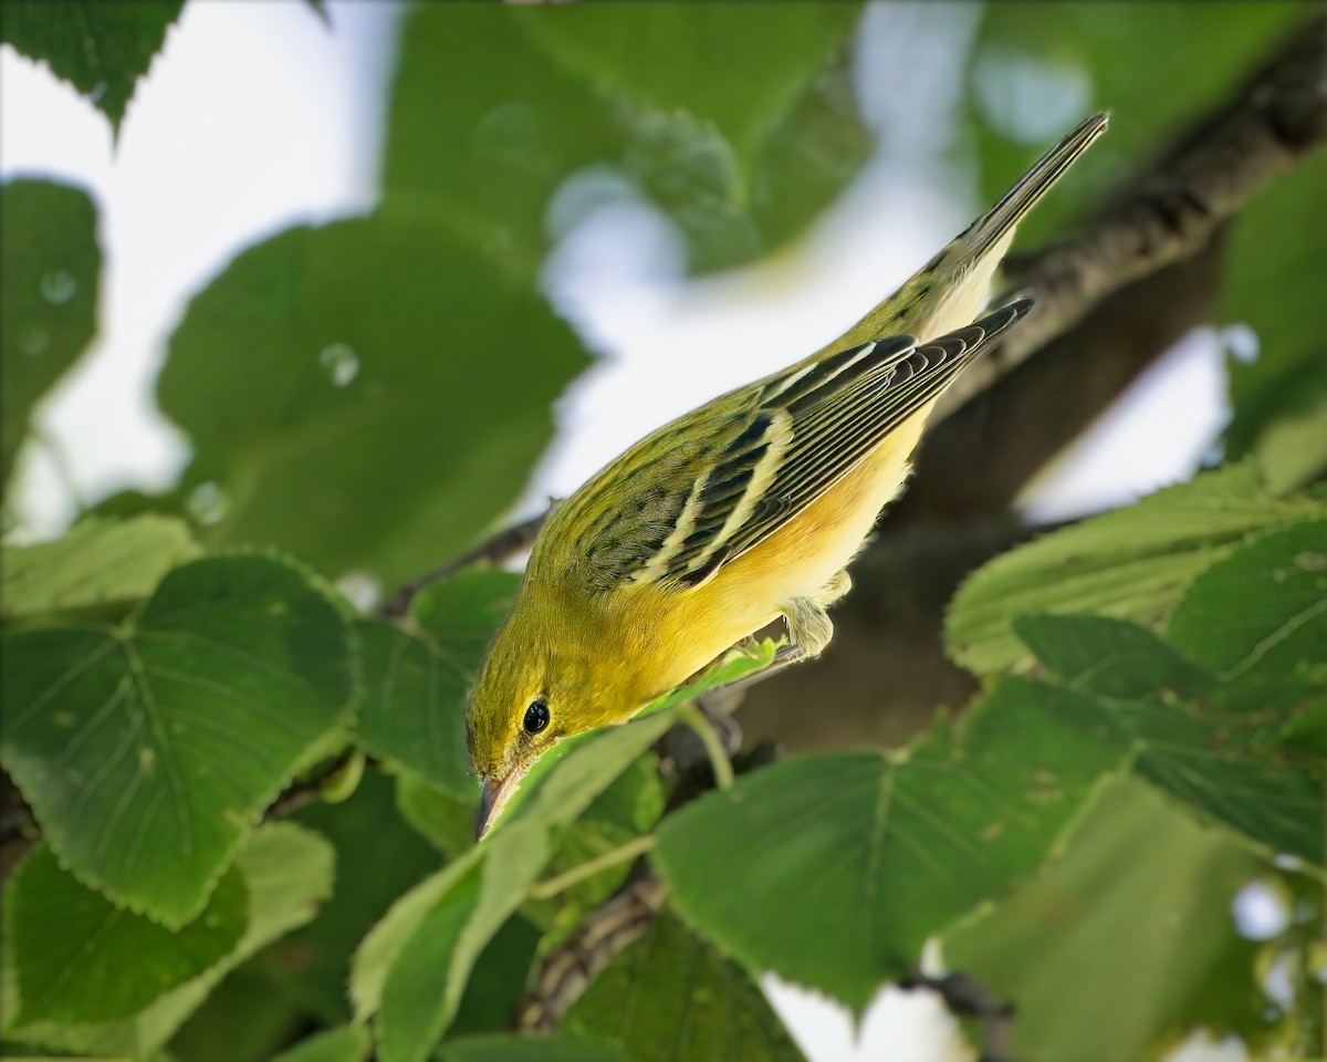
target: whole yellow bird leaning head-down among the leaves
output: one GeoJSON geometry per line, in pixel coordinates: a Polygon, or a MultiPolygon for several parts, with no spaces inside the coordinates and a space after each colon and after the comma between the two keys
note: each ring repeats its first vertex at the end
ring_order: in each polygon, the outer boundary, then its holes
{"type": "Polygon", "coordinates": [[[775,619],[798,657],[824,649],[936,400],[1031,307],[974,323],[1015,224],[1105,125],[1083,122],[840,340],[678,417],[556,508],[470,694],[480,835],[555,742],[625,722],[775,619]]]}

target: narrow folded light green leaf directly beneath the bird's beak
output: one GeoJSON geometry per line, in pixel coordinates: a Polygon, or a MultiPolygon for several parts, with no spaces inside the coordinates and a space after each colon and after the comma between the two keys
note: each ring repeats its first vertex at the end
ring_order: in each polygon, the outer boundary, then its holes
{"type": "Polygon", "coordinates": [[[654,713],[563,742],[525,781],[484,842],[402,896],[365,937],[350,974],[356,1018],[377,1013],[384,1062],[423,1059],[447,1030],[474,962],[548,866],[556,839],[673,722],[671,708],[768,664],[768,646],[734,652],[654,713]],[[559,750],[560,751],[560,750],[559,750]]]}

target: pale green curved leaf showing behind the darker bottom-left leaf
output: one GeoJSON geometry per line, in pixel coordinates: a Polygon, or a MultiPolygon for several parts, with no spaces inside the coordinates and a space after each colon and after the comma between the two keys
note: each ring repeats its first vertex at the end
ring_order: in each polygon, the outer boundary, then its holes
{"type": "MultiPolygon", "coordinates": [[[[316,834],[291,823],[268,823],[245,839],[235,867],[248,892],[248,927],[234,950],[206,973],[162,996],[138,1017],[110,1025],[35,1022],[24,1042],[80,1054],[151,1058],[216,984],[259,948],[303,925],[332,892],[333,854],[316,834]]],[[[4,1014],[16,1008],[12,937],[5,936],[4,1014]]]]}

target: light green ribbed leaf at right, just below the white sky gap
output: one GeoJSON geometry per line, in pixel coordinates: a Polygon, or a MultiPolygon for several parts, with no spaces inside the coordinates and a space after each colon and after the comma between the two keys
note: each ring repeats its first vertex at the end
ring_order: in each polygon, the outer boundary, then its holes
{"type": "Polygon", "coordinates": [[[979,568],[949,608],[949,652],[978,673],[1027,668],[1013,623],[1038,612],[1161,623],[1194,576],[1246,535],[1322,511],[1320,502],[1271,495],[1250,462],[1205,473],[979,568]]]}

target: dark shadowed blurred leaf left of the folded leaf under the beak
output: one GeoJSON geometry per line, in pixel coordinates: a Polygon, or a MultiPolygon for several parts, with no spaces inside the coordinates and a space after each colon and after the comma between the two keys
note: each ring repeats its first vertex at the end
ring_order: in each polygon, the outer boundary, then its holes
{"type": "Polygon", "coordinates": [[[344,803],[313,803],[293,816],[336,850],[336,892],[312,923],[256,956],[253,965],[269,986],[328,1025],[350,1017],[345,985],[364,935],[441,862],[402,820],[394,789],[391,778],[369,771],[344,803]]]}

